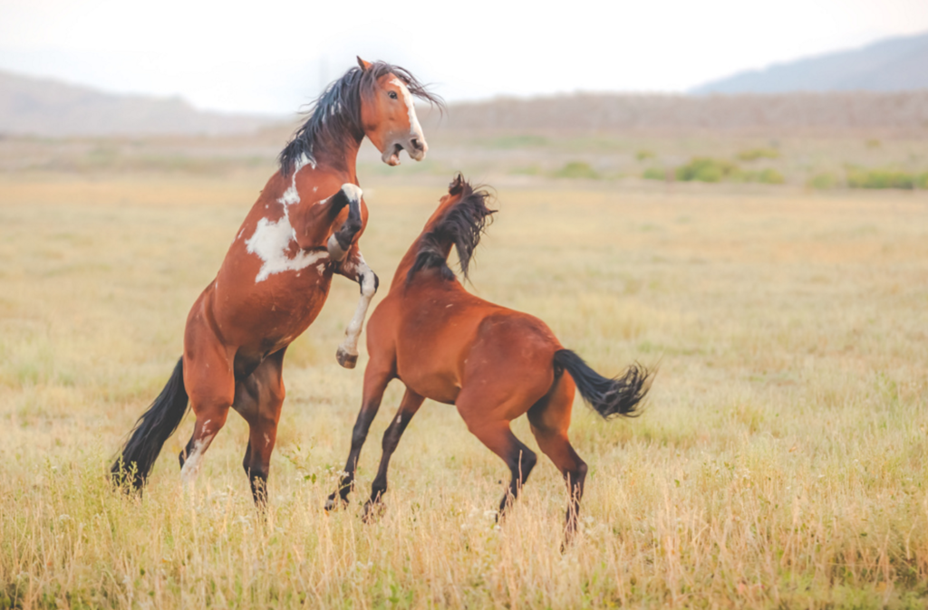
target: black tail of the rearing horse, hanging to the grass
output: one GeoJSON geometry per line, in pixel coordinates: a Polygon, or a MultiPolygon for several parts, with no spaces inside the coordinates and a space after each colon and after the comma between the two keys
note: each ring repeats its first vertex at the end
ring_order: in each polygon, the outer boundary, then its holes
{"type": "Polygon", "coordinates": [[[164,441],[174,434],[187,413],[187,388],[184,388],[184,359],[177,361],[174,373],[148,411],[135,422],[132,437],[122,448],[122,455],[111,472],[117,485],[128,483],[133,489],[145,485],[164,441]]]}

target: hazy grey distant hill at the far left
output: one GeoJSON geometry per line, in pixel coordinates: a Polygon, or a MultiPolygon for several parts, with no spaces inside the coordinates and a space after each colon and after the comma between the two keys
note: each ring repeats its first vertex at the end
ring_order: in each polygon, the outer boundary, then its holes
{"type": "Polygon", "coordinates": [[[0,133],[60,135],[248,133],[277,117],[203,112],[180,98],[111,95],[0,71],[0,133]]]}

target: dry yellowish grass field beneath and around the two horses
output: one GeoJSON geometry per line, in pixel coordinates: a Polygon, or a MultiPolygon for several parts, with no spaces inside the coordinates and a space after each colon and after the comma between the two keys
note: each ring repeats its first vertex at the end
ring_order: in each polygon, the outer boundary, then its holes
{"type": "MultiPolygon", "coordinates": [[[[637,420],[575,403],[582,535],[542,457],[506,477],[427,402],[387,511],[322,506],[362,368],[334,358],[357,287],[337,279],[290,349],[260,521],[232,415],[185,494],[168,441],[141,500],[110,459],[161,390],[187,309],[264,172],[0,176],[0,608],[907,607],[928,604],[928,195],[791,186],[498,186],[472,273],[604,374],[660,363],[637,420]]],[[[367,181],[362,246],[387,280],[450,178],[367,181]]],[[[376,301],[375,301],[376,302],[376,301]]],[[[524,421],[514,426],[530,447],[524,421]]]]}

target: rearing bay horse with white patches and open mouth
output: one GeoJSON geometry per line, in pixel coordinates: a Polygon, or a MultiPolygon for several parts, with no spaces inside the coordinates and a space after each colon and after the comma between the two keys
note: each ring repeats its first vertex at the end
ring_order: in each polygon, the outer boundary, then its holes
{"type": "Polygon", "coordinates": [[[231,407],[249,424],[243,466],[254,501],[264,504],[285,393],[284,354],[316,319],[335,273],[361,286],[336,354],[347,368],[357,362],[357,339],[378,287],[358,247],[367,205],[355,172],[357,152],[367,136],[389,165],[399,164],[403,149],[412,159],[424,159],[428,145],[414,95],[443,105],[403,68],[358,57],[358,66],[316,99],[215,279],[193,304],[183,356],[112,465],[117,484],[131,489],[145,484],[189,401],[197,422],[179,457],[185,484],[197,476],[231,407]]]}

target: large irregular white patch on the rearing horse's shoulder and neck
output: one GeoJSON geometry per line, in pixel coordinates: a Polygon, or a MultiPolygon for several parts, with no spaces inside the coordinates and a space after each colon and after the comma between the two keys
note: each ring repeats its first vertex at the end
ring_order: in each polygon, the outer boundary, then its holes
{"type": "Polygon", "coordinates": [[[259,259],[264,261],[258,274],[254,277],[255,284],[264,282],[274,273],[300,271],[329,257],[329,253],[325,250],[305,252],[301,249],[297,251],[293,258],[290,258],[287,253],[291,243],[296,241],[296,231],[290,224],[289,210],[290,206],[300,203],[300,194],[296,190],[296,174],[306,165],[316,168],[313,159],[303,155],[303,158],[293,168],[290,187],[277,199],[277,203],[283,206],[284,215],[276,221],[269,221],[266,218],[261,219],[254,228],[254,234],[245,240],[248,252],[257,255],[259,259]]]}

